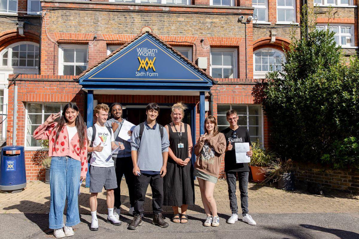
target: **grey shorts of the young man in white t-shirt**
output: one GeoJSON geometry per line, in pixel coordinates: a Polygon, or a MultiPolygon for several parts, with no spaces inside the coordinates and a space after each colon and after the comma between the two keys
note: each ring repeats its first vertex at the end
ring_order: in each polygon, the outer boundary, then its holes
{"type": "Polygon", "coordinates": [[[96,167],[90,165],[90,192],[102,192],[117,188],[115,167],[96,167]]]}

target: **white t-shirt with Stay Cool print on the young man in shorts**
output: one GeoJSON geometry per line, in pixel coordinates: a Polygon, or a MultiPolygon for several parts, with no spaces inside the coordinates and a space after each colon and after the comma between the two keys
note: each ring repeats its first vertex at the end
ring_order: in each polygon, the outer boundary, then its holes
{"type": "MultiPolygon", "coordinates": [[[[90,165],[97,166],[97,167],[112,167],[113,159],[112,159],[112,147],[111,142],[115,141],[113,137],[113,131],[111,129],[111,135],[106,128],[106,126],[99,126],[98,124],[95,124],[96,127],[96,137],[92,144],[93,147],[96,147],[99,143],[101,143],[101,146],[103,146],[103,149],[101,152],[93,151],[91,154],[91,160],[90,165]]],[[[87,129],[87,139],[92,139],[92,127],[87,129]]]]}

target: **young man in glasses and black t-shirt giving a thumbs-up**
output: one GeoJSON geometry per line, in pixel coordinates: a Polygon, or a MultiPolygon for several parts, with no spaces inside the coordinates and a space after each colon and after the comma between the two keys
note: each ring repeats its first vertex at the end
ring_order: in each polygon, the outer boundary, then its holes
{"type": "Polygon", "coordinates": [[[237,125],[238,115],[235,110],[228,110],[226,113],[229,127],[222,133],[227,140],[227,148],[224,156],[224,171],[226,173],[229,194],[229,206],[232,216],[227,223],[234,224],[238,221],[238,206],[236,196],[236,175],[238,175],[239,191],[241,192],[242,220],[250,225],[256,225],[255,220],[248,214],[248,163],[236,163],[236,152],[234,145],[236,143],[249,143],[250,151],[248,156],[252,156],[252,146],[249,132],[246,128],[237,125]]]}

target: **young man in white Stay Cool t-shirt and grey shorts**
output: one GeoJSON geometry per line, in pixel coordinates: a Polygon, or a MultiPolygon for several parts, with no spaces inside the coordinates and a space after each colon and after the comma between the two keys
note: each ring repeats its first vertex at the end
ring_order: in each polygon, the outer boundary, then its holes
{"type": "MultiPolygon", "coordinates": [[[[121,225],[121,221],[113,214],[113,206],[115,203],[114,189],[117,188],[115,166],[112,159],[112,150],[118,146],[115,144],[113,137],[113,131],[110,127],[106,127],[104,124],[108,118],[109,108],[106,104],[99,104],[95,107],[95,114],[97,116],[97,122],[94,125],[95,128],[89,127],[87,129],[88,140],[88,152],[91,153],[90,160],[90,209],[91,209],[91,227],[90,230],[98,230],[97,220],[97,194],[102,192],[104,187],[107,191],[107,223],[113,225],[121,225]],[[93,132],[95,131],[95,137],[93,139],[93,132]],[[92,147],[90,147],[92,143],[92,147]]],[[[120,149],[125,147],[120,144],[120,149]]]]}

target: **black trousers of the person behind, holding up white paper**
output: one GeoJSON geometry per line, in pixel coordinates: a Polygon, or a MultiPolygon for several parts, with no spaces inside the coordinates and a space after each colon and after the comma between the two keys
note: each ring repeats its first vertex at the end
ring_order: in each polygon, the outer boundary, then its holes
{"type": "Polygon", "coordinates": [[[120,208],[121,206],[121,180],[122,176],[125,175],[127,187],[129,188],[129,197],[130,197],[130,205],[131,207],[135,204],[135,180],[136,176],[133,174],[133,164],[131,157],[122,157],[115,158],[112,157],[113,161],[115,161],[115,172],[117,178],[117,188],[114,190],[115,194],[115,207],[120,208]]]}

